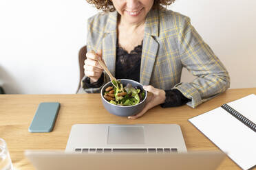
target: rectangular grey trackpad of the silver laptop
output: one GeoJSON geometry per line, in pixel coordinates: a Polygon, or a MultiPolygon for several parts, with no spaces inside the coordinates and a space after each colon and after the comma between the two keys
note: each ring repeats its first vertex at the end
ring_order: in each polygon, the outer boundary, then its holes
{"type": "Polygon", "coordinates": [[[107,144],[145,144],[142,126],[109,126],[107,144]]]}

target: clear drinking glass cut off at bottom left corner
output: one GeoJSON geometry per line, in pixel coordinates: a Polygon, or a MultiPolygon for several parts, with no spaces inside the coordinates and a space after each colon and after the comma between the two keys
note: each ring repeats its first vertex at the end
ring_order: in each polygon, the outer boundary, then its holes
{"type": "Polygon", "coordinates": [[[0,170],[12,170],[12,160],[6,146],[6,141],[0,138],[0,170]]]}

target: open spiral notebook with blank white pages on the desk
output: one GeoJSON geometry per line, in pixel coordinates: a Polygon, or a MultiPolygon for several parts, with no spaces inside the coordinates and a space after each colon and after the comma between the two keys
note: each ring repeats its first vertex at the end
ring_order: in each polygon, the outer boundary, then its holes
{"type": "Polygon", "coordinates": [[[242,169],[256,166],[256,95],[189,119],[242,169]]]}

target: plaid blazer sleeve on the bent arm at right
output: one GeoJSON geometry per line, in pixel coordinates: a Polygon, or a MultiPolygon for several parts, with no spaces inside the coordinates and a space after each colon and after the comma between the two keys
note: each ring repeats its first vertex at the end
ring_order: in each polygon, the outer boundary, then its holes
{"type": "Polygon", "coordinates": [[[173,87],[191,99],[187,105],[195,108],[229,88],[228,71],[186,16],[180,19],[178,44],[182,65],[196,76],[193,82],[179,83],[173,87]]]}

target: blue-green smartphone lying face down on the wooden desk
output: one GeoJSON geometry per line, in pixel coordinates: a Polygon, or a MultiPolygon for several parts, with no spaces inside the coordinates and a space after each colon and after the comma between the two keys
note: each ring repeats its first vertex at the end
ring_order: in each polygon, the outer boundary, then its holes
{"type": "Polygon", "coordinates": [[[28,131],[32,133],[52,132],[60,106],[58,102],[39,104],[28,131]]]}

